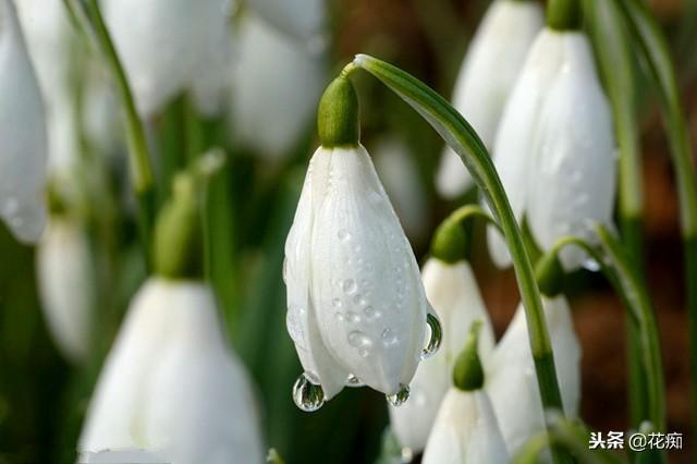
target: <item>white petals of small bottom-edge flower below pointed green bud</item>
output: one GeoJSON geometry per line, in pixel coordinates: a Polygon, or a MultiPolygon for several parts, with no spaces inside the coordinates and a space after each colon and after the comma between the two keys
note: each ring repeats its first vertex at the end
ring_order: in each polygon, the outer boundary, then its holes
{"type": "Polygon", "coordinates": [[[503,437],[484,391],[451,388],[438,412],[424,464],[509,463],[503,437]]]}

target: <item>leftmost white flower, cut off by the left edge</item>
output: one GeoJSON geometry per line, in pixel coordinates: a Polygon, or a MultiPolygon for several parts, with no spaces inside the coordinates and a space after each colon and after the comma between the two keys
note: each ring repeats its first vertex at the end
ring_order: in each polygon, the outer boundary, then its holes
{"type": "Polygon", "coordinates": [[[0,0],[0,217],[22,242],[46,223],[44,103],[14,4],[0,0]]]}

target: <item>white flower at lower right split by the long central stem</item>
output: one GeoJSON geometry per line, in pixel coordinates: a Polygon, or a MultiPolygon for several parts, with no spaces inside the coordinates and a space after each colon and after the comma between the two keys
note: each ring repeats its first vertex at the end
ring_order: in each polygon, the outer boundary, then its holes
{"type": "MultiPolygon", "coordinates": [[[[578,414],[580,401],[580,345],[564,296],[543,297],[542,303],[564,413],[573,418],[578,414]]],[[[542,402],[522,305],[486,365],[486,390],[509,451],[514,454],[530,437],[545,430],[542,402]]]]}

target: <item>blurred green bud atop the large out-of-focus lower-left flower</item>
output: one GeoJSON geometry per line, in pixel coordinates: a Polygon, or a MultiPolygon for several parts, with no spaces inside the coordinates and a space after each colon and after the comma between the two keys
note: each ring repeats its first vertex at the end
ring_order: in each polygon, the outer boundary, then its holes
{"type": "Polygon", "coordinates": [[[172,190],[155,225],[155,272],[169,279],[203,279],[203,228],[194,175],[178,174],[172,190]]]}

